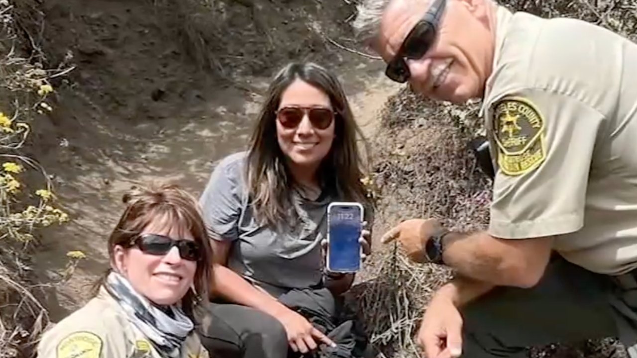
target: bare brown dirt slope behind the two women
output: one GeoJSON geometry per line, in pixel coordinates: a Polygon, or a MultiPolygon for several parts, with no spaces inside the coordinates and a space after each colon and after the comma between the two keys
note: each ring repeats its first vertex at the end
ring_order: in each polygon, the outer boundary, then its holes
{"type": "Polygon", "coordinates": [[[106,238],[122,192],[173,178],[198,194],[213,164],[243,150],[269,76],[290,60],[317,61],[343,81],[362,128],[374,131],[396,85],[351,46],[343,0],[47,1],[51,62],[75,66],[55,83],[54,111],[37,127],[34,155],[54,176],[73,221],[45,231],[33,257],[57,278],[69,250],[87,254],[70,282],[47,289],[54,322],[88,297],[106,268],[106,238]],[[333,41],[338,41],[334,45],[333,41]]]}

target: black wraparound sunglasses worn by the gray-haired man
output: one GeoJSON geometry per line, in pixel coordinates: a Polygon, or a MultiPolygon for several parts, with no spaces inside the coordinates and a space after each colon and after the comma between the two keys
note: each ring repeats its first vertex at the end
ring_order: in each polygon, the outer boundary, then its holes
{"type": "Polygon", "coordinates": [[[427,53],[436,41],[438,25],[446,4],[447,0],[434,0],[431,8],[407,34],[398,52],[387,64],[385,69],[387,77],[399,83],[407,82],[412,74],[404,59],[417,60],[427,53]]]}

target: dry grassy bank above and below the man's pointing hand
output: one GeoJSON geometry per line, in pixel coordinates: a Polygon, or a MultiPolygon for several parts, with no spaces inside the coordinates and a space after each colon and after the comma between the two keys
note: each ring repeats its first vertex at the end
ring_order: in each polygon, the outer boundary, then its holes
{"type": "MultiPolygon", "coordinates": [[[[489,179],[476,168],[468,148],[479,131],[476,104],[440,106],[404,89],[382,111],[374,179],[380,188],[378,219],[382,234],[397,222],[438,217],[463,229],[484,227],[488,219],[489,179]]],[[[381,357],[419,357],[413,342],[431,294],[451,276],[436,265],[415,265],[396,246],[376,248],[368,266],[371,280],[354,289],[371,343],[381,357]]]]}

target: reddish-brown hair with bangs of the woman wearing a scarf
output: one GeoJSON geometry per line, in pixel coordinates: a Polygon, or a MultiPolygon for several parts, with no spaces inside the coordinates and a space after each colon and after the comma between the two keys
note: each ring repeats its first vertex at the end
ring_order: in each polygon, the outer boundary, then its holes
{"type": "MultiPolygon", "coordinates": [[[[200,299],[208,299],[211,283],[212,248],[206,226],[201,217],[201,210],[197,199],[172,183],[151,183],[148,187],[132,187],[122,197],[126,205],[124,213],[108,238],[108,257],[111,266],[115,247],[131,246],[132,241],[155,219],[167,216],[169,225],[181,226],[192,234],[194,241],[201,248],[201,259],[197,262],[194,276],[194,292],[189,289],[182,299],[182,308],[189,317],[193,317],[193,310],[200,299]]],[[[104,283],[106,276],[97,282],[95,289],[104,283]]],[[[94,290],[94,292],[96,292],[94,290]]]]}

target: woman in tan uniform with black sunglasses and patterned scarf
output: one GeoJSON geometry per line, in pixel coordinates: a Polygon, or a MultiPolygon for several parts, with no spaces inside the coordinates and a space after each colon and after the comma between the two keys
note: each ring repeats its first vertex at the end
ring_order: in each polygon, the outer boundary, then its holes
{"type": "Polygon", "coordinates": [[[96,296],[43,334],[38,357],[208,357],[193,319],[212,255],[196,199],[162,185],[134,188],[124,203],[96,296]]]}

